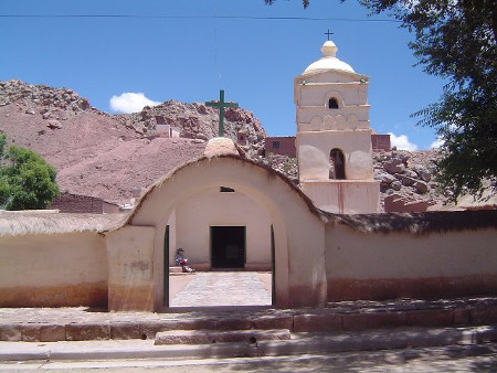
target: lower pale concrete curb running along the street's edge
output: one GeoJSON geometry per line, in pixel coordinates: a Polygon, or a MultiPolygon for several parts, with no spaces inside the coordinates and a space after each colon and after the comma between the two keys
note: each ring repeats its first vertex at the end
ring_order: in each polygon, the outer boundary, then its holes
{"type": "Polygon", "coordinates": [[[0,342],[0,361],[209,359],[376,351],[497,341],[497,327],[402,328],[347,333],[296,333],[257,343],[154,345],[154,341],[0,342]]]}

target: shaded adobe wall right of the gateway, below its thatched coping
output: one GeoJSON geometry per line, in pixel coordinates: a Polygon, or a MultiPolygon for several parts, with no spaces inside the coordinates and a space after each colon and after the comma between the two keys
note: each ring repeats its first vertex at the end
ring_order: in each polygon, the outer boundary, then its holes
{"type": "Polygon", "coordinates": [[[328,300],[497,294],[497,231],[361,233],[326,228],[328,300]]]}

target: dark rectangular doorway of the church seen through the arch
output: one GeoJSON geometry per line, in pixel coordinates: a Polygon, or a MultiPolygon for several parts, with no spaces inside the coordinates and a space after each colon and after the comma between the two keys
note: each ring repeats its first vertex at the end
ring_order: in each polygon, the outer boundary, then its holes
{"type": "Polygon", "coordinates": [[[245,266],[245,227],[211,226],[212,268],[245,266]]]}

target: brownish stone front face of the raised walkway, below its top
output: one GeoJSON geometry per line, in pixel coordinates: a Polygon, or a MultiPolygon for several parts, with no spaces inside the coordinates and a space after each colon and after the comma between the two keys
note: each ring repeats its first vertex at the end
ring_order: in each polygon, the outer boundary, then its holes
{"type": "Polygon", "coordinates": [[[339,313],[330,309],[295,315],[200,317],[150,321],[0,323],[0,341],[55,342],[154,339],[170,330],[288,329],[292,332],[339,332],[402,327],[458,327],[497,323],[497,306],[466,309],[374,310],[339,313]]]}

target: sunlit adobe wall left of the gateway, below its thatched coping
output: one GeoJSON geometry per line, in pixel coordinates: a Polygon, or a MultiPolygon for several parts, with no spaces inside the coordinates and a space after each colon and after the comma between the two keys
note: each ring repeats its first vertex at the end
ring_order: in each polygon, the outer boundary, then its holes
{"type": "Polygon", "coordinates": [[[0,237],[0,307],[107,306],[107,253],[96,233],[0,237]]]}

